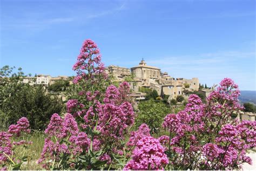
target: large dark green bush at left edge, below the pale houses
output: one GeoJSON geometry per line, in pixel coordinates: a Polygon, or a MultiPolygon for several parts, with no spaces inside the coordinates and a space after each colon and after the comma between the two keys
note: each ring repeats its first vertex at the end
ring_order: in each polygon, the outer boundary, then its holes
{"type": "Polygon", "coordinates": [[[60,113],[63,102],[55,95],[46,93],[42,86],[22,83],[24,73],[19,69],[13,73],[12,68],[4,66],[0,77],[0,114],[2,129],[14,124],[19,118],[26,117],[30,128],[44,129],[52,113],[60,113]]]}

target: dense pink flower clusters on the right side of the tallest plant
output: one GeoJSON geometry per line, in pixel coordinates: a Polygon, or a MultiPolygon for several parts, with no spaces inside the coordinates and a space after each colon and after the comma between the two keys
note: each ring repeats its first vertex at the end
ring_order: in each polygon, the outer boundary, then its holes
{"type": "Polygon", "coordinates": [[[134,112],[129,102],[129,94],[120,92],[129,92],[124,88],[130,88],[126,83],[120,84],[120,87],[107,87],[102,109],[99,111],[99,129],[104,136],[104,141],[113,141],[112,139],[123,139],[126,128],[134,123],[134,112]],[[124,86],[126,85],[126,86],[124,86]],[[122,99],[122,100],[121,100],[122,99]]]}

